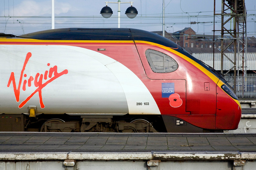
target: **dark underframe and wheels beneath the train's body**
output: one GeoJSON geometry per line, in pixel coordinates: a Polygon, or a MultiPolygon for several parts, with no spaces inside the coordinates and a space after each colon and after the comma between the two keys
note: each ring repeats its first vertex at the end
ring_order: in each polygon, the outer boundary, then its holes
{"type": "MultiPolygon", "coordinates": [[[[70,116],[40,114],[1,114],[0,131],[37,132],[214,132],[196,127],[169,115],[82,115],[70,116]]],[[[218,131],[219,132],[219,131],[218,131]]]]}

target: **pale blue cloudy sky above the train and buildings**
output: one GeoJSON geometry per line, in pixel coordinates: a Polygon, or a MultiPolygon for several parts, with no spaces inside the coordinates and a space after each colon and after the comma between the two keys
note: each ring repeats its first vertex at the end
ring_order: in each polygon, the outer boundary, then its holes
{"type": "MultiPolygon", "coordinates": [[[[55,29],[117,28],[118,5],[108,3],[113,15],[105,19],[100,14],[105,2],[106,0],[55,0],[55,29]]],[[[51,0],[0,0],[0,3],[0,32],[22,35],[52,28],[51,0]]],[[[138,11],[133,19],[125,15],[129,6],[130,3],[121,4],[121,28],[162,31],[162,0],[133,0],[133,7],[138,11]]],[[[256,1],[245,0],[245,6],[247,36],[256,37],[256,1]]],[[[221,13],[221,0],[216,0],[215,9],[216,13],[221,13]]],[[[191,27],[196,34],[212,35],[213,11],[214,0],[165,0],[165,31],[172,33],[191,27]],[[191,25],[190,22],[197,23],[191,25]]],[[[220,30],[220,17],[216,16],[215,22],[215,30],[220,30]]],[[[226,27],[230,27],[229,25],[226,27]]],[[[220,35],[220,32],[215,34],[220,35]]]]}

